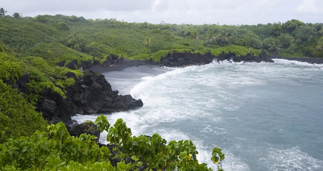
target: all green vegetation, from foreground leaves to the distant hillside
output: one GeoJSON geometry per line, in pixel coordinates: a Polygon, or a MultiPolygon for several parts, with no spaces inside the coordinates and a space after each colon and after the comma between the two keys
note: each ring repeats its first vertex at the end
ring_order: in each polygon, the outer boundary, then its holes
{"type": "MultiPolygon", "coordinates": [[[[0,170],[129,170],[145,163],[150,169],[209,170],[196,160],[191,141],[166,141],[131,136],[122,120],[110,127],[104,116],[95,124],[108,132],[115,154],[99,147],[94,137],[72,137],[63,124],[48,126],[34,105],[40,92],[65,97],[66,87],[80,76],[83,63],[104,62],[116,54],[129,59],[159,61],[177,52],[218,55],[272,55],[323,57],[323,24],[291,20],[258,25],[150,24],[115,19],[85,20],[76,16],[23,17],[5,15],[0,8],[0,170]],[[68,67],[67,67],[68,66],[68,67]],[[25,89],[14,89],[20,80],[25,89]],[[122,150],[120,150],[122,147],[122,150]],[[110,159],[119,158],[117,166],[110,159]],[[132,162],[129,162],[131,158],[132,162]]],[[[212,160],[224,159],[214,149],[212,160]]]]}

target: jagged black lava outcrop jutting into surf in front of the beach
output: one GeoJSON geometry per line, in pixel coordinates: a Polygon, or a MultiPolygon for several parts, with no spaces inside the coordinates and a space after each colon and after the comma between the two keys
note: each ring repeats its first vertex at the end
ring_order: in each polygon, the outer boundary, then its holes
{"type": "Polygon", "coordinates": [[[90,72],[79,78],[74,73],[68,73],[76,83],[66,88],[66,98],[51,90],[41,92],[36,109],[43,113],[45,119],[51,122],[72,124],[71,116],[125,111],[142,107],[142,101],[133,99],[131,95],[118,95],[105,80],[104,75],[90,72]]]}

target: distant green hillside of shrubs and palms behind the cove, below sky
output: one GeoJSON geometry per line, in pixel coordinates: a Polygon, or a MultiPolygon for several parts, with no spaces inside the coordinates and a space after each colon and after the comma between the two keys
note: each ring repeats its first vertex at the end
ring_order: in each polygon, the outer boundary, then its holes
{"type": "Polygon", "coordinates": [[[63,15],[7,16],[0,18],[0,41],[23,56],[39,56],[50,64],[73,59],[78,63],[92,61],[92,57],[102,60],[111,53],[159,61],[173,50],[257,55],[265,49],[273,55],[323,57],[322,27],[323,23],[298,20],[258,25],[177,25],[63,15]]]}

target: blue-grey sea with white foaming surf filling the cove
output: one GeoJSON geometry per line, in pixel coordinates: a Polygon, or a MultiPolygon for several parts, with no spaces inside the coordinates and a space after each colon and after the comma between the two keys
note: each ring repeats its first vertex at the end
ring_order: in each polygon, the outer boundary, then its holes
{"type": "Polygon", "coordinates": [[[323,171],[323,65],[214,62],[164,72],[126,79],[106,73],[120,93],[144,103],[107,115],[109,122],[122,118],[134,135],[190,139],[199,162],[213,170],[211,150],[218,147],[226,171],[323,171]]]}

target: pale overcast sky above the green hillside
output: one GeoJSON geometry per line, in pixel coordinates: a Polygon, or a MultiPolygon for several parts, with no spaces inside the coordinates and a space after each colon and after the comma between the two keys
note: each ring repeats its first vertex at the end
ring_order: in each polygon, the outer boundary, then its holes
{"type": "Polygon", "coordinates": [[[127,22],[267,24],[323,23],[323,0],[1,0],[6,15],[56,15],[127,22]]]}

